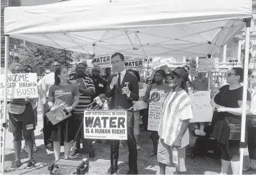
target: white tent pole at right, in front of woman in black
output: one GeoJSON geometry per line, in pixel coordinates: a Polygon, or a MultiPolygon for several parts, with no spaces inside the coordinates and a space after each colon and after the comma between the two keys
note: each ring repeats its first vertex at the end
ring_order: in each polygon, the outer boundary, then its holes
{"type": "Polygon", "coordinates": [[[250,18],[243,20],[246,22],[246,49],[244,54],[244,87],[243,87],[243,113],[241,122],[241,142],[240,142],[240,166],[239,174],[243,174],[244,148],[247,147],[244,138],[246,134],[246,101],[247,101],[247,86],[248,86],[248,68],[249,68],[249,40],[250,40],[250,18]]]}

